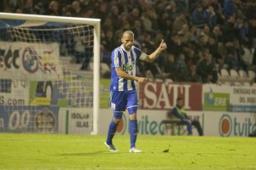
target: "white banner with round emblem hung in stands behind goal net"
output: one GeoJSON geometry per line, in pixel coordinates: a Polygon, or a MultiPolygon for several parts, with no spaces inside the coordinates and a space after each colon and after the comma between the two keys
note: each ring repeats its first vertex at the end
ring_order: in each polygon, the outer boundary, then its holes
{"type": "Polygon", "coordinates": [[[47,81],[61,76],[58,43],[0,42],[0,77],[47,81]]]}

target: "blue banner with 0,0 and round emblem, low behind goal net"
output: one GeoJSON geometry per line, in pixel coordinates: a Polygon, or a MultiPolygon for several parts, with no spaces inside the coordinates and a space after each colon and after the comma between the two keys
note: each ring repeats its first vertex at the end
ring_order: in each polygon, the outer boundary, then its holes
{"type": "Polygon", "coordinates": [[[57,133],[59,107],[0,105],[0,133],[57,133]]]}

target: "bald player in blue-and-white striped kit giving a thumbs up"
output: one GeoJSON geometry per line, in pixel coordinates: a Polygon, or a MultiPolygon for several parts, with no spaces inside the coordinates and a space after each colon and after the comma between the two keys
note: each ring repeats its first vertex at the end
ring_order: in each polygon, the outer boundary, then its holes
{"type": "Polygon", "coordinates": [[[166,50],[164,40],[152,54],[144,54],[139,48],[133,46],[134,34],[132,31],[125,31],[121,38],[122,44],[113,49],[111,54],[111,85],[110,85],[110,106],[113,110],[113,119],[109,124],[108,138],[105,145],[111,152],[119,151],[113,145],[113,136],[122,119],[125,108],[129,113],[130,129],[130,152],[141,152],[136,148],[137,140],[137,82],[146,82],[146,77],[136,77],[136,64],[138,59],[153,62],[160,53],[166,50]]]}

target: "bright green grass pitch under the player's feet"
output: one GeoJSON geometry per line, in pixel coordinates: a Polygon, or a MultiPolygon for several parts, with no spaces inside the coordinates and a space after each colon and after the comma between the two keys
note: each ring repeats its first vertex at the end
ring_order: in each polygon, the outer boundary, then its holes
{"type": "Polygon", "coordinates": [[[105,136],[0,133],[0,169],[256,169],[253,138],[117,135],[110,153],[105,136]],[[169,150],[163,152],[164,150],[169,150]]]}

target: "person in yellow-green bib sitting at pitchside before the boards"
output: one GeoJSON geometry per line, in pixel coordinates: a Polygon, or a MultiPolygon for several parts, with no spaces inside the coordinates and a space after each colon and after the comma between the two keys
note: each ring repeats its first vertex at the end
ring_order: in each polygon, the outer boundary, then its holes
{"type": "Polygon", "coordinates": [[[177,98],[177,104],[176,107],[174,107],[174,109],[172,110],[172,113],[187,126],[189,135],[192,135],[192,126],[195,126],[199,135],[203,136],[203,130],[201,128],[200,122],[190,119],[189,116],[187,116],[187,114],[185,113],[185,110],[183,109],[182,98],[177,98]]]}

